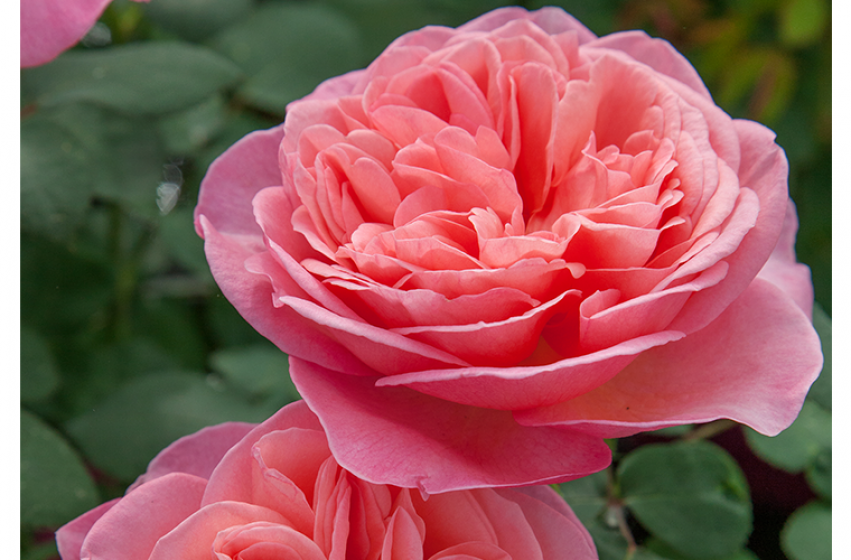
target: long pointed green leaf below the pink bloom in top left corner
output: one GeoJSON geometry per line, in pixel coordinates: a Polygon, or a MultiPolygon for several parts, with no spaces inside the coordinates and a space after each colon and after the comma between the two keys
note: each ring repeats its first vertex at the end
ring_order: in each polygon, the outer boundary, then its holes
{"type": "Polygon", "coordinates": [[[236,66],[208,49],[157,41],[68,51],[22,72],[21,87],[41,106],[88,101],[148,115],[200,103],[240,77],[236,66]]]}

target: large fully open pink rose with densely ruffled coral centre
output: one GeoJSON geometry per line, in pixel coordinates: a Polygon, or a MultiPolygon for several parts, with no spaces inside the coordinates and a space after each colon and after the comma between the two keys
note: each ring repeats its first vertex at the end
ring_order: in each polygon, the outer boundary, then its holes
{"type": "Polygon", "coordinates": [[[773,139],[665,41],[506,8],[292,103],[210,167],[196,227],[345,468],[552,482],[603,438],[797,415],[822,358],[773,139]]]}

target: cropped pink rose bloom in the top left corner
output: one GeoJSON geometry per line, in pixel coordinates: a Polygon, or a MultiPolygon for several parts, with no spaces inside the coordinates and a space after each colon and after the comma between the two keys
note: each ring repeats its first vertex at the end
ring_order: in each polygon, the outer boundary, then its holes
{"type": "Polygon", "coordinates": [[[21,0],[21,66],[50,62],[76,45],[111,1],[21,0]]]}

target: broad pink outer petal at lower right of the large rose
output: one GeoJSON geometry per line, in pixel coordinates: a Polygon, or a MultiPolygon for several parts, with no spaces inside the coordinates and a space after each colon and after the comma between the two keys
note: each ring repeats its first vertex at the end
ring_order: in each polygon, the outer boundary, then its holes
{"type": "Polygon", "coordinates": [[[777,435],[795,420],[821,371],[809,325],[786,294],[756,279],[703,330],[648,350],[581,397],[515,417],[607,438],[718,418],[777,435]]]}

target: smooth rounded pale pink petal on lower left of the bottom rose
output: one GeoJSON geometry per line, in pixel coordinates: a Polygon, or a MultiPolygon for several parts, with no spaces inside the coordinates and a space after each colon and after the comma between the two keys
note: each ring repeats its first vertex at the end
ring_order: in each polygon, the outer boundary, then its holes
{"type": "Polygon", "coordinates": [[[92,527],[80,556],[147,560],[157,541],[198,511],[207,481],[172,473],[136,488],[92,527]]]}

